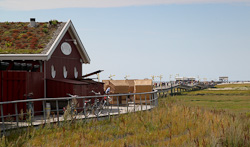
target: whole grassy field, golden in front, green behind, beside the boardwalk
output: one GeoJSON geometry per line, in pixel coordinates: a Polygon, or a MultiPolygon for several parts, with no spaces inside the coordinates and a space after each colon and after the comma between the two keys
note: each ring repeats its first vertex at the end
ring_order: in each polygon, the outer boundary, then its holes
{"type": "Polygon", "coordinates": [[[241,95],[235,90],[187,92],[160,99],[159,106],[151,111],[104,121],[65,122],[61,127],[57,124],[39,129],[30,127],[2,137],[0,145],[250,146],[249,99],[247,93],[241,95]]]}

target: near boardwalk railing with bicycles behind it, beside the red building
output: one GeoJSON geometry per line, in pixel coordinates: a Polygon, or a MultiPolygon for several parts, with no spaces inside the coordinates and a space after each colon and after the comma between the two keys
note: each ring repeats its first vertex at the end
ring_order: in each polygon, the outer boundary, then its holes
{"type": "Polygon", "coordinates": [[[42,125],[47,122],[58,123],[72,119],[100,118],[124,113],[150,110],[158,105],[157,90],[145,93],[95,95],[95,96],[73,96],[61,98],[39,98],[17,101],[0,102],[1,132],[6,130],[27,127],[31,125],[42,125]],[[100,106],[105,98],[110,97],[112,101],[107,105],[100,106]],[[73,101],[77,104],[72,109],[73,101]],[[86,103],[91,101],[93,111],[87,115],[86,103]],[[98,103],[95,103],[98,102],[98,103]],[[96,104],[96,105],[94,105],[96,104]],[[12,105],[12,106],[10,106],[12,105]],[[26,106],[26,107],[23,107],[26,106]],[[68,109],[65,109],[65,108],[68,109]],[[14,108],[8,113],[8,108],[14,108]],[[21,109],[22,108],[22,109],[21,109]],[[23,110],[25,108],[25,110],[23,110]],[[73,110],[73,111],[72,111],[73,110]],[[67,117],[66,112],[69,114],[67,117]]]}

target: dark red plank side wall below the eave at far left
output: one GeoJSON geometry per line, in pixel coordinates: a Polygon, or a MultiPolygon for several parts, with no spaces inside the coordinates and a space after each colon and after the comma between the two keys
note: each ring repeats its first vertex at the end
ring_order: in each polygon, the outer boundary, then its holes
{"type": "MultiPolygon", "coordinates": [[[[24,100],[24,94],[32,92],[32,98],[43,98],[43,73],[26,71],[2,71],[1,72],[1,101],[24,100]]],[[[42,103],[35,102],[35,111],[42,110],[42,103]]],[[[26,103],[18,103],[18,113],[23,110],[26,113],[26,103]]],[[[15,104],[3,105],[4,115],[15,114],[15,104]]]]}

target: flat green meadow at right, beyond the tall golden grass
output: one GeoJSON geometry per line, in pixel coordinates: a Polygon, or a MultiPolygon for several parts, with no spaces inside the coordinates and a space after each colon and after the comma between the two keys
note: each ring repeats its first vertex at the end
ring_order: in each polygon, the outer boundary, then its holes
{"type": "Polygon", "coordinates": [[[221,88],[250,87],[250,84],[217,85],[214,89],[184,92],[176,96],[186,105],[225,109],[236,113],[250,112],[250,90],[218,90],[221,88]]]}

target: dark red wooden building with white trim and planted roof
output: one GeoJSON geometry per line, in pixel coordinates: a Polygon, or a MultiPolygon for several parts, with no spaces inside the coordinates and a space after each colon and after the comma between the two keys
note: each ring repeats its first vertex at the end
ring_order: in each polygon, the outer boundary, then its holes
{"type": "MultiPolygon", "coordinates": [[[[103,93],[103,83],[82,78],[82,64],[90,58],[71,20],[0,23],[0,35],[1,101],[27,99],[29,93],[32,98],[103,93]]],[[[19,104],[21,109],[26,104],[19,104]]],[[[36,102],[35,109],[42,110],[42,104],[36,102]]],[[[5,114],[14,111],[14,105],[4,107],[5,114]]]]}

